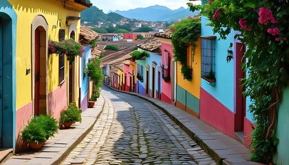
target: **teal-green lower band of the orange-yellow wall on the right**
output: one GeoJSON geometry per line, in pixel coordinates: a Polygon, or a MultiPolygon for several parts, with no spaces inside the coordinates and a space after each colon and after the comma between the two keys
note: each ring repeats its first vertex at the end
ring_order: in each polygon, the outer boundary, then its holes
{"type": "Polygon", "coordinates": [[[189,107],[189,109],[195,111],[195,113],[200,113],[200,100],[190,94],[189,91],[186,91],[185,89],[177,85],[176,95],[176,99],[179,102],[181,102],[183,105],[186,105],[186,107],[189,107]]]}

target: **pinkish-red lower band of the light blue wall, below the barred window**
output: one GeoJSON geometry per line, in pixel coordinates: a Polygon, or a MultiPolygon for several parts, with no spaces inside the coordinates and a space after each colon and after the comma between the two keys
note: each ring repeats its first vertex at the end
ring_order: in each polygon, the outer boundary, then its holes
{"type": "Polygon", "coordinates": [[[200,119],[223,133],[235,137],[234,113],[202,88],[200,90],[200,119]]]}

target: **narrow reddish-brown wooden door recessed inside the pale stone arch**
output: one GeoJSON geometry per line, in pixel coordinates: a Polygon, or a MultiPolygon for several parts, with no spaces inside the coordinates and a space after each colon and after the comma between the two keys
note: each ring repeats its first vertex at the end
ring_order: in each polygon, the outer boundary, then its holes
{"type": "Polygon", "coordinates": [[[34,115],[39,115],[40,31],[35,30],[34,115]]]}

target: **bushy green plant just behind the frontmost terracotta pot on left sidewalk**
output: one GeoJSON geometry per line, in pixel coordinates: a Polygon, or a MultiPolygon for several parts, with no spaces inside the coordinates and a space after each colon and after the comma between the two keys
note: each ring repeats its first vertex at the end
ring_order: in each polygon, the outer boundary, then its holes
{"type": "Polygon", "coordinates": [[[58,131],[58,121],[55,118],[52,118],[51,115],[39,115],[32,118],[30,122],[43,126],[47,139],[49,137],[54,137],[54,133],[57,133],[58,131]]]}

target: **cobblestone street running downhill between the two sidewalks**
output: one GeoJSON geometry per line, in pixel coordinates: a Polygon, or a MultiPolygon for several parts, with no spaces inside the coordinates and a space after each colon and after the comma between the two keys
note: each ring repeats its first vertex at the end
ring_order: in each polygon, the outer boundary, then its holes
{"type": "Polygon", "coordinates": [[[153,104],[103,87],[105,107],[62,164],[216,164],[153,104]]]}

